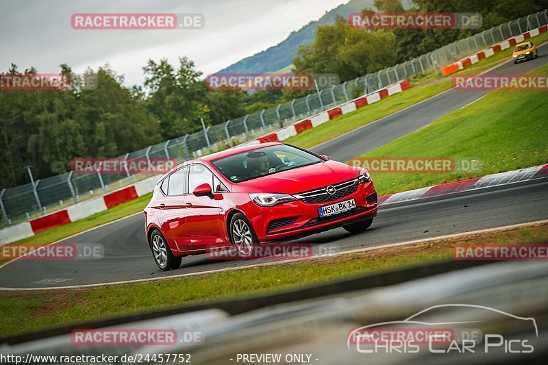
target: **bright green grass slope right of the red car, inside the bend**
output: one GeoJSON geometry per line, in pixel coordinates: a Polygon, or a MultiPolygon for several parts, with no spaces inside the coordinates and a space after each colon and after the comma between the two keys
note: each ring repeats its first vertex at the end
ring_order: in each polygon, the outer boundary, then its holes
{"type": "MultiPolygon", "coordinates": [[[[534,71],[538,74],[547,72],[548,64],[534,71]]],[[[482,170],[473,173],[374,174],[379,194],[545,164],[548,157],[547,114],[545,91],[497,90],[363,156],[474,158],[482,161],[482,170]]]]}

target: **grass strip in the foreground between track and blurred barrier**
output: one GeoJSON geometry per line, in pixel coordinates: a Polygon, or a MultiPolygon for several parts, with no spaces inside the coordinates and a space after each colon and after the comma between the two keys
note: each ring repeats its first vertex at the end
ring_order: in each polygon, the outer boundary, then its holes
{"type": "Polygon", "coordinates": [[[546,242],[548,225],[432,240],[329,259],[79,290],[1,292],[0,336],[171,305],[295,289],[354,275],[450,259],[454,244],[546,242]],[[238,293],[236,296],[234,293],[238,293]]]}

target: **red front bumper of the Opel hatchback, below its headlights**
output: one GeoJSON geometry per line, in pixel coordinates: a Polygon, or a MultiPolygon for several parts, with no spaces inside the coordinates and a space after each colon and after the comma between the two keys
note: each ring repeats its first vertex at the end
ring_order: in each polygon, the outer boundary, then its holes
{"type": "Polygon", "coordinates": [[[287,240],[373,218],[377,215],[378,209],[377,192],[373,182],[368,181],[365,184],[359,184],[356,192],[333,201],[305,203],[299,200],[269,208],[257,208],[258,212],[246,213],[246,216],[252,217],[250,221],[258,240],[260,242],[287,240]],[[356,208],[353,210],[325,218],[319,216],[319,207],[349,199],[356,201],[356,208]]]}

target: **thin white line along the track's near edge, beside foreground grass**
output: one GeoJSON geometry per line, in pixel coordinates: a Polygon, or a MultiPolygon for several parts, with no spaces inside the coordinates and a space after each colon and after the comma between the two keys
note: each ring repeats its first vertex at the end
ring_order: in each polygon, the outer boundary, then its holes
{"type": "Polygon", "coordinates": [[[186,274],[179,274],[179,275],[171,275],[166,277],[153,277],[149,279],[134,279],[134,280],[126,280],[126,281],[113,281],[109,283],[103,283],[103,284],[84,284],[84,285],[74,285],[74,286],[58,286],[53,288],[0,288],[0,290],[5,291],[32,291],[32,290],[59,290],[59,289],[80,289],[80,288],[97,288],[99,286],[110,286],[110,285],[120,285],[120,284],[135,284],[135,283],[145,283],[147,281],[158,281],[158,280],[166,280],[166,279],[174,279],[174,278],[181,278],[181,277],[191,277],[191,276],[197,276],[197,275],[206,275],[206,274],[213,274],[213,273],[222,273],[224,271],[232,271],[232,270],[243,270],[246,268],[255,268],[255,267],[264,267],[264,266],[274,266],[279,264],[288,264],[292,262],[306,262],[308,260],[319,260],[319,259],[325,259],[325,257],[335,257],[338,255],[347,255],[349,253],[360,253],[360,252],[366,252],[366,251],[374,251],[378,249],[387,249],[390,247],[400,247],[400,246],[408,246],[412,244],[420,244],[425,242],[432,242],[434,240],[446,240],[451,238],[460,238],[460,237],[466,237],[471,236],[475,234],[485,234],[485,233],[493,233],[493,232],[503,232],[503,231],[510,231],[512,229],[517,228],[523,228],[523,227],[534,227],[537,225],[544,225],[548,223],[548,219],[544,219],[542,221],[534,221],[530,223],[519,223],[516,225],[506,225],[503,227],[495,227],[495,228],[488,228],[488,229],[479,229],[477,231],[469,231],[469,232],[462,232],[460,234],[449,234],[445,236],[437,236],[432,238],[421,238],[420,240],[411,240],[406,242],[397,242],[397,243],[390,243],[390,244],[382,244],[379,246],[373,246],[373,247],[364,247],[362,249],[353,249],[348,251],[340,251],[337,253],[330,253],[329,255],[315,255],[313,257],[310,257],[308,259],[292,259],[292,260],[282,260],[282,261],[273,261],[273,262],[263,262],[261,264],[251,264],[246,266],[238,266],[238,267],[232,267],[232,268],[220,268],[217,270],[206,270],[201,271],[199,273],[186,273],[186,274]]]}

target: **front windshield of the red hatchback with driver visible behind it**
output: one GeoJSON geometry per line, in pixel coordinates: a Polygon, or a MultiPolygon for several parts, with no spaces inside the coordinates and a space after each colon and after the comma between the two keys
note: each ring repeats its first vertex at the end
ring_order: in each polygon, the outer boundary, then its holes
{"type": "Polygon", "coordinates": [[[214,161],[213,165],[227,179],[239,183],[322,161],[312,153],[279,144],[221,158],[214,161]]]}

